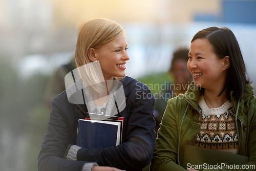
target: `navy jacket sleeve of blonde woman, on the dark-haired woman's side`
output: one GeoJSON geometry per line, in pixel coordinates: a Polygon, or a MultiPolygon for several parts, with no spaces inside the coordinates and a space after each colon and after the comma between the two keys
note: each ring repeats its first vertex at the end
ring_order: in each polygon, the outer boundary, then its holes
{"type": "Polygon", "coordinates": [[[142,170],[150,163],[155,148],[154,102],[148,87],[135,87],[126,98],[126,110],[129,111],[126,141],[106,148],[81,148],[77,160],[96,161],[99,165],[126,171],[142,170]]]}

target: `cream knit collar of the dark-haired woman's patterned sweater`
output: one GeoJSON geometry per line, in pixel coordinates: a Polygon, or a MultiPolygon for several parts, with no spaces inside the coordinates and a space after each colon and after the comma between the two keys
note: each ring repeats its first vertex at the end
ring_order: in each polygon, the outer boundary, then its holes
{"type": "Polygon", "coordinates": [[[222,106],[220,106],[219,108],[212,108],[209,109],[205,100],[204,100],[204,96],[200,96],[198,104],[200,106],[200,108],[202,109],[202,112],[204,115],[206,116],[210,116],[210,115],[221,115],[225,112],[228,111],[229,108],[231,108],[232,103],[231,101],[227,100],[224,104],[222,104],[222,106]]]}

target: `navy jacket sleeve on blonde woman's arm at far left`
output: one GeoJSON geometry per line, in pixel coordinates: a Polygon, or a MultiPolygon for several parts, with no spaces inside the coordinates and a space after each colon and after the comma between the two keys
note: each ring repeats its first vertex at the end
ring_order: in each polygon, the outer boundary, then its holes
{"type": "Polygon", "coordinates": [[[81,171],[82,166],[86,163],[85,161],[63,159],[68,144],[71,143],[71,135],[67,118],[63,115],[65,107],[60,104],[63,104],[63,100],[59,96],[53,99],[47,134],[38,156],[39,171],[81,171]]]}

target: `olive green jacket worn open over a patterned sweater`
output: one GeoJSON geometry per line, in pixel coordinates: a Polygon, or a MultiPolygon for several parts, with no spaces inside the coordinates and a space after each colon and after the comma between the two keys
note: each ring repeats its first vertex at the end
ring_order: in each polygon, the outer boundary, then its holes
{"type": "MultiPolygon", "coordinates": [[[[198,100],[200,88],[191,83],[185,94],[169,99],[164,112],[151,170],[185,170],[181,165],[186,144],[194,145],[200,129],[198,100]]],[[[239,137],[239,154],[249,156],[246,164],[256,164],[256,98],[246,84],[243,97],[236,101],[230,93],[239,137]],[[237,110],[238,109],[238,110],[237,110]]],[[[207,170],[207,169],[205,169],[207,170]]],[[[217,169],[216,169],[217,170],[217,169]]],[[[218,169],[225,170],[225,169],[218,169]]]]}

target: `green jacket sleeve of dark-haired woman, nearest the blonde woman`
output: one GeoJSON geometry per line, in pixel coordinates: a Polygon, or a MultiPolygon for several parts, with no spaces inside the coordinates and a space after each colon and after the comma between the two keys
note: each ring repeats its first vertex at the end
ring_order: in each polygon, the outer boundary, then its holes
{"type": "Polygon", "coordinates": [[[176,164],[179,130],[175,113],[175,105],[172,100],[169,100],[158,130],[151,170],[185,170],[182,166],[176,164]]]}

